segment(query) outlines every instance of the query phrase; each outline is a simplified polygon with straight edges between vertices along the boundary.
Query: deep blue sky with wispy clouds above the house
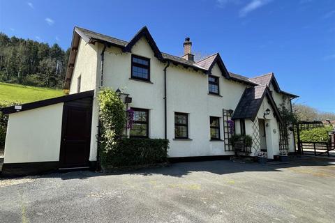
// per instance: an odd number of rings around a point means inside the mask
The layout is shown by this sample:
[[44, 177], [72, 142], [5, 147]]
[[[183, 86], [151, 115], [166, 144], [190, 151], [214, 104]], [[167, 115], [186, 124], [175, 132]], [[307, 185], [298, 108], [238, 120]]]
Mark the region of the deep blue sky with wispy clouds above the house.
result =
[[334, 0], [5, 1], [0, 31], [70, 46], [73, 26], [124, 40], [148, 26], [161, 49], [220, 52], [231, 72], [274, 72], [297, 102], [335, 112]]

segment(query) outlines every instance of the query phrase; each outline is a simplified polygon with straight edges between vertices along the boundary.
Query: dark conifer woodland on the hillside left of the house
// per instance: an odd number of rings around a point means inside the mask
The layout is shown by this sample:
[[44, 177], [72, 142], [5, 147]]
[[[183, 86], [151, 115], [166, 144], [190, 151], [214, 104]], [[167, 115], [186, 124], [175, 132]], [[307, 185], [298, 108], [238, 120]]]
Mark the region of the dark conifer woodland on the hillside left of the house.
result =
[[70, 50], [0, 33], [0, 81], [63, 87]]

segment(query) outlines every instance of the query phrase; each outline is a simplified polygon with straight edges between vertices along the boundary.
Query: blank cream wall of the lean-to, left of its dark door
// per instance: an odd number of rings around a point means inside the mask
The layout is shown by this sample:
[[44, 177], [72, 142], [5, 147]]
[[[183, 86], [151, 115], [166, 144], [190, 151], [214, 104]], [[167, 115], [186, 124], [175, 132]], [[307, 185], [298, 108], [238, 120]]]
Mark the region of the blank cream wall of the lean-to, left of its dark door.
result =
[[59, 161], [63, 105], [10, 114], [4, 163]]

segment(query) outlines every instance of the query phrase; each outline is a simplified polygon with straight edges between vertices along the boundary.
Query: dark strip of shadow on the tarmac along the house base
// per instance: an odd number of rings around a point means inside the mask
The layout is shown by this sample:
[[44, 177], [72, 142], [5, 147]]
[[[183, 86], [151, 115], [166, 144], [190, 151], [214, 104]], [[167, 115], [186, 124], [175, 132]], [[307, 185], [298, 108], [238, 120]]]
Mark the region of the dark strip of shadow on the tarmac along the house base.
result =
[[283, 171], [285, 168], [292, 167], [327, 167], [334, 166], [335, 160], [325, 159], [321, 157], [294, 157], [289, 163], [284, 164], [258, 164], [254, 163], [237, 163], [230, 160], [216, 160], [203, 162], [179, 162], [168, 164], [165, 167], [151, 167], [137, 170], [119, 170], [110, 173], [94, 172], [94, 171], [70, 171], [67, 173], [52, 173], [40, 176], [27, 176], [26, 178], [61, 178], [63, 180], [70, 179], [87, 179], [97, 176], [113, 176], [113, 175], [163, 175], [173, 177], [183, 177], [192, 172], [209, 172], [211, 174], [224, 175], [247, 171]]

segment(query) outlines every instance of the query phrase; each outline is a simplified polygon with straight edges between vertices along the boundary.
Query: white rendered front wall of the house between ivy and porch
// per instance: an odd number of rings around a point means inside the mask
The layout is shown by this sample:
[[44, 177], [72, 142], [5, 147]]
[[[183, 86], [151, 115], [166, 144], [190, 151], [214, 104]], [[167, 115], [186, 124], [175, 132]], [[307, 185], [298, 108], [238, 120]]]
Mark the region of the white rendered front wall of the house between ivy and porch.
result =
[[[103, 45], [98, 46], [101, 52]], [[130, 107], [149, 109], [149, 137], [164, 138], [164, 72], [166, 63], [158, 61], [142, 38], [131, 49], [133, 54], [150, 59], [150, 81], [140, 82], [131, 77], [131, 54], [117, 47], [105, 52], [104, 86], [121, 89], [133, 98]], [[99, 58], [99, 57], [98, 57]], [[98, 63], [100, 63], [98, 61]], [[210, 141], [209, 116], [220, 118], [223, 139], [223, 109], [234, 109], [245, 89], [244, 84], [229, 81], [214, 66], [212, 75], [220, 80], [222, 97], [208, 94], [208, 76], [193, 69], [170, 65], [167, 71], [168, 86], [168, 139], [170, 157], [199, 155], [230, 155], [225, 152], [223, 141]], [[188, 113], [188, 134], [191, 140], [174, 139], [174, 112]]]

